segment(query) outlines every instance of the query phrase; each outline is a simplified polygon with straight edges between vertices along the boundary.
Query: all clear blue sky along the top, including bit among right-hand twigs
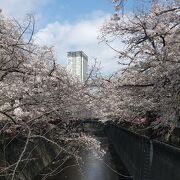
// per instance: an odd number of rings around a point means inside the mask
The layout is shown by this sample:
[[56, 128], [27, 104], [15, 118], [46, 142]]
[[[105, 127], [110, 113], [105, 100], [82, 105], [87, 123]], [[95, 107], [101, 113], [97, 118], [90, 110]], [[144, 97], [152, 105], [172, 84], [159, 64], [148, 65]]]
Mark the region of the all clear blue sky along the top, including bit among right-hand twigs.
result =
[[[136, 4], [137, 0], [128, 0], [126, 12], [132, 11]], [[112, 14], [113, 4], [111, 0], [51, 0], [39, 9], [34, 9], [33, 13], [38, 14], [38, 11], [44, 18], [44, 24], [53, 21], [75, 23], [95, 11]]]

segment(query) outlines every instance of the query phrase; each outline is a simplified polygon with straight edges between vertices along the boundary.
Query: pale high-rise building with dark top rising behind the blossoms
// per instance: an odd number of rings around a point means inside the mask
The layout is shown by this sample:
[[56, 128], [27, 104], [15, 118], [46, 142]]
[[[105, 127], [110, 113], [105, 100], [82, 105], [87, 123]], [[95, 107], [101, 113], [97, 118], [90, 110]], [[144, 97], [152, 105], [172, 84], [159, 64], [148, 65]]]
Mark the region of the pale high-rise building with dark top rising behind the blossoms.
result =
[[88, 73], [88, 56], [83, 51], [68, 52], [68, 70], [80, 82], [85, 82]]

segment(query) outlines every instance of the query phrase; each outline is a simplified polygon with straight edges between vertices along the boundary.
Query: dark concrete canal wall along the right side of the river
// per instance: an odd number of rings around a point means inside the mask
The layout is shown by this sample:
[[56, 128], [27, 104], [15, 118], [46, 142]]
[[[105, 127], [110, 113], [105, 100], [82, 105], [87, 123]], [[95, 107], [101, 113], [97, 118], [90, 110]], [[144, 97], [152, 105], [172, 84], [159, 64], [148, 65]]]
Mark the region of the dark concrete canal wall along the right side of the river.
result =
[[114, 125], [105, 133], [134, 180], [179, 180], [180, 150]]

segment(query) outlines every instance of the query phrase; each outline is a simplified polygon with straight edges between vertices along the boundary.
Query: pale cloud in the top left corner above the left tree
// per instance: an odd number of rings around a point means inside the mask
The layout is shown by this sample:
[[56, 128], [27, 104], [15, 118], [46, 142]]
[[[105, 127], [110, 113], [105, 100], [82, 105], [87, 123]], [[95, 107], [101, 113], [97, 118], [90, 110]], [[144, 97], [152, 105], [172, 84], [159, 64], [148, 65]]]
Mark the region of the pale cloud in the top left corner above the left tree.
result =
[[19, 18], [27, 13], [35, 13], [50, 0], [0, 0], [0, 9], [6, 16]]

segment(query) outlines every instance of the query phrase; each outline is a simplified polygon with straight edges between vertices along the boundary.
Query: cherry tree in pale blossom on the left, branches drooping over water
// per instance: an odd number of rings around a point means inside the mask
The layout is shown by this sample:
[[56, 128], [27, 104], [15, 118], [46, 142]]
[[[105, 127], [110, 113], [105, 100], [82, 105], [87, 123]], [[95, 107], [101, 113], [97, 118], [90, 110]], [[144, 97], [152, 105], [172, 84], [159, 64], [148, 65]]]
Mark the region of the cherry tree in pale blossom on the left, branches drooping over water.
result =
[[4, 159], [3, 168], [0, 162], [0, 176], [11, 180], [18, 176], [33, 139], [56, 145], [67, 154], [65, 160], [78, 159], [81, 147], [100, 148], [95, 139], [78, 132], [74, 122], [92, 109], [87, 85], [56, 63], [52, 48], [33, 43], [34, 25], [30, 15], [21, 24], [0, 15], [0, 136], [11, 141], [19, 134], [26, 137], [16, 162]]

